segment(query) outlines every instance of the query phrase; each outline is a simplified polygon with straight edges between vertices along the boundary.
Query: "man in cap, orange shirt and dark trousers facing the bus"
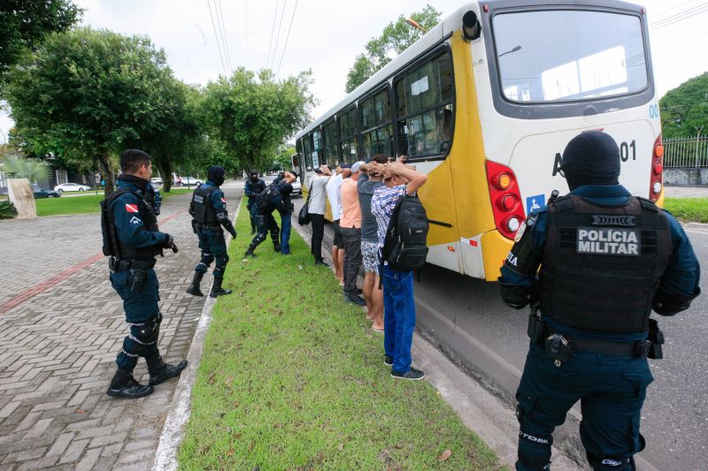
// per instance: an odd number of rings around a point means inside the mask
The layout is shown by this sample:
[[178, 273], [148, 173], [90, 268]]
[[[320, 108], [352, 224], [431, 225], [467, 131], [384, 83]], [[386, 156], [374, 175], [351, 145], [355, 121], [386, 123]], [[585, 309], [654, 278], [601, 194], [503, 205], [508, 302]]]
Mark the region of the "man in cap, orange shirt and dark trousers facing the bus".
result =
[[342, 231], [344, 249], [344, 263], [342, 274], [344, 277], [344, 301], [358, 306], [366, 306], [366, 300], [360, 297], [362, 292], [357, 287], [357, 278], [361, 268], [361, 209], [357, 191], [359, 166], [363, 162], [351, 166], [351, 174], [342, 180], [340, 196], [342, 199], [342, 217], [339, 220]]

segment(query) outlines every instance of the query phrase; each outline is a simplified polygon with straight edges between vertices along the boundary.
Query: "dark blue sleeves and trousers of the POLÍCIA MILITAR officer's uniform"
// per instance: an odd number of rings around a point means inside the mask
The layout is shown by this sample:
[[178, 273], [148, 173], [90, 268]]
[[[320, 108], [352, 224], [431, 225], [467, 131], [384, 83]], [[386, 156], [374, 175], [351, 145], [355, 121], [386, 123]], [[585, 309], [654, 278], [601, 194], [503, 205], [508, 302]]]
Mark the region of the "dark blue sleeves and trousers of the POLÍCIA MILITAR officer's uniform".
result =
[[[607, 208], [622, 207], [632, 198], [621, 185], [578, 186], [570, 194]], [[654, 310], [661, 315], [673, 315], [688, 308], [690, 300], [700, 292], [700, 271], [696, 255], [681, 225], [668, 212], [659, 212], [668, 221], [672, 254], [658, 284]], [[502, 296], [514, 308], [522, 308], [529, 299], [533, 301], [536, 293], [543, 288], [543, 277], [539, 282], [535, 272], [541, 264], [544, 250], [549, 248], [546, 247], [548, 227], [547, 207], [532, 212], [525, 224], [527, 233], [523, 235], [524, 238], [530, 238], [527, 240], [530, 246], [527, 247], [531, 249], [521, 255], [526, 260], [519, 257], [518, 261], [510, 263], [507, 258], [501, 270], [499, 282]], [[518, 245], [519, 238], [510, 257], [514, 256]], [[527, 270], [522, 270], [524, 273], [512, 267], [526, 263]], [[587, 286], [590, 295], [594, 288], [596, 286]], [[510, 303], [507, 296], [510, 290], [517, 289], [528, 293], [527, 300]], [[601, 298], [597, 295], [598, 303], [603, 301]], [[666, 305], [677, 307], [666, 310], [660, 308], [658, 298], [666, 300]], [[581, 329], [558, 323], [549, 314], [542, 310], [540, 315], [543, 338], [552, 333], [562, 335], [563, 338], [574, 338], [579, 345], [585, 342], [610, 347], [617, 345], [618, 348], [635, 345], [635, 342], [646, 341], [648, 338], [647, 330], [612, 332], [608, 331], [611, 329], [604, 329], [603, 325], [598, 325], [597, 330]], [[568, 359], [558, 361], [546, 353], [548, 345], [546, 341], [544, 348], [543, 341], [532, 341], [516, 394], [520, 424], [519, 461], [516, 468], [535, 470], [549, 467], [553, 429], [565, 422], [567, 411], [581, 400], [581, 440], [593, 468], [634, 469], [632, 455], [644, 447], [643, 437], [639, 433], [643, 401], [647, 386], [653, 381], [646, 352], [640, 355], [612, 354], [573, 348]]]

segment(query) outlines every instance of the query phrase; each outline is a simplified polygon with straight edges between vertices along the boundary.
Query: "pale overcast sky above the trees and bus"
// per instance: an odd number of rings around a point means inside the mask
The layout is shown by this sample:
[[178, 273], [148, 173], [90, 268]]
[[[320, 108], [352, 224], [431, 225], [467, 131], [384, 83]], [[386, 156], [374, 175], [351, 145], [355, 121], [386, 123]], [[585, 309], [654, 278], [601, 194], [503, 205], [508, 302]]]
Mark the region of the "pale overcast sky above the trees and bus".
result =
[[[312, 69], [312, 92], [319, 99], [316, 117], [342, 100], [346, 74], [366, 42], [398, 15], [419, 11], [428, 2], [443, 12], [443, 18], [465, 4], [454, 0], [74, 0], [85, 10], [84, 25], [150, 36], [158, 48], [165, 49], [175, 76], [188, 83], [204, 85], [240, 65], [250, 70], [280, 69], [280, 77]], [[640, 4], [648, 12], [659, 97], [708, 71], [708, 3], [645, 0]], [[221, 56], [227, 55], [230, 67], [222, 63], [215, 37], [219, 5], [227, 39], [226, 48], [221, 46], [227, 51], [222, 50]], [[676, 22], [666, 25], [667, 19]], [[12, 120], [3, 113], [0, 129], [6, 134], [10, 127]], [[4, 141], [2, 135], [0, 140]]]

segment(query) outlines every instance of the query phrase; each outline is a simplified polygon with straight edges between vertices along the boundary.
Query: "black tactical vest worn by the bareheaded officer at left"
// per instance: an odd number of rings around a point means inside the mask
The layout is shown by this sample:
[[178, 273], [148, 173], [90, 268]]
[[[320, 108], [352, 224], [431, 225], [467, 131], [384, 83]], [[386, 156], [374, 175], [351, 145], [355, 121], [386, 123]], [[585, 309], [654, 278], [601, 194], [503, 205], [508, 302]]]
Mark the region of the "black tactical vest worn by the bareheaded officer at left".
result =
[[112, 194], [109, 194], [108, 198], [102, 201], [101, 204], [104, 210], [101, 224], [104, 232], [104, 254], [120, 259], [150, 260], [155, 258], [156, 255], [162, 253], [162, 248], [157, 246], [143, 248], [130, 247], [121, 242], [118, 237], [115, 218], [112, 214], [112, 204], [119, 195], [126, 193], [135, 194], [138, 198], [138, 215], [142, 218], [142, 223], [145, 224], [147, 230], [150, 232], [159, 231], [158, 217], [155, 216], [155, 212], [150, 206], [150, 203], [143, 199], [144, 195], [142, 192], [134, 192], [132, 190], [128, 190], [127, 188], [119, 188]]

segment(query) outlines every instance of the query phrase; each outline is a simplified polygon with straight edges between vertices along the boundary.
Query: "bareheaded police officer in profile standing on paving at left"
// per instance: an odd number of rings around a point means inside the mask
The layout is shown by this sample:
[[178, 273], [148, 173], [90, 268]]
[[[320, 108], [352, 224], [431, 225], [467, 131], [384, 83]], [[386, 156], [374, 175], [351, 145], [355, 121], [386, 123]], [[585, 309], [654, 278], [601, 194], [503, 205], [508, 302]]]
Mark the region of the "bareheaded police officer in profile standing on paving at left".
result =
[[[140, 398], [153, 391], [153, 386], [180, 376], [187, 361], [176, 366], [162, 361], [158, 336], [162, 314], [158, 308], [158, 277], [155, 255], [163, 248], [177, 252], [173, 237], [159, 232], [158, 220], [146, 201], [150, 192], [152, 163], [150, 156], [138, 149], [120, 155], [118, 189], [102, 204], [104, 214], [104, 253], [110, 254], [111, 284], [123, 300], [130, 334], [118, 353], [118, 370], [107, 394], [116, 398]], [[148, 363], [150, 384], [139, 384], [133, 377], [138, 357]]]

